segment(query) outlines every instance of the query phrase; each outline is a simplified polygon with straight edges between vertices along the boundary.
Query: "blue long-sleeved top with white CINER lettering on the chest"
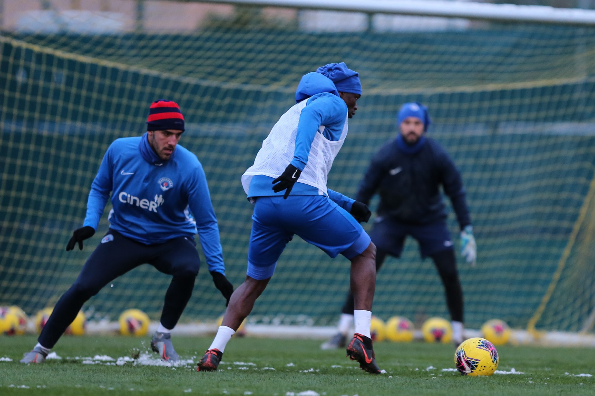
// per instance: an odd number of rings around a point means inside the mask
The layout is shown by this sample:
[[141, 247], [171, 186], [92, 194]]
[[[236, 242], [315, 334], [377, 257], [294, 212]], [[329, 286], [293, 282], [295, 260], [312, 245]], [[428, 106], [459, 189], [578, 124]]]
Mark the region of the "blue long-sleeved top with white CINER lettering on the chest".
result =
[[205, 172], [186, 148], [177, 145], [170, 160], [163, 161], [147, 134], [112, 142], [93, 180], [83, 226], [97, 230], [110, 192], [112, 229], [146, 245], [193, 238], [198, 232], [209, 271], [225, 274]]

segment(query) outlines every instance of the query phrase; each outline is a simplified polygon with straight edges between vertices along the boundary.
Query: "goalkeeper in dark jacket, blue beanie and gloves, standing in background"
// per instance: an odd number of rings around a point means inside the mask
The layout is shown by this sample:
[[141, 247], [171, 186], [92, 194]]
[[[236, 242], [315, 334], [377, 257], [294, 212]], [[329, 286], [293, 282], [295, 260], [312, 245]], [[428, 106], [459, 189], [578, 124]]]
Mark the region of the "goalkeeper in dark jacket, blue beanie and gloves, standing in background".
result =
[[[453, 342], [458, 345], [463, 341], [463, 292], [440, 185], [461, 226], [461, 254], [471, 265], [475, 265], [477, 248], [461, 174], [444, 148], [425, 137], [429, 125], [427, 107], [420, 103], [403, 104], [397, 116], [400, 133], [372, 158], [356, 199], [368, 204], [374, 194], [380, 195], [378, 217], [370, 233], [378, 249], [377, 270], [387, 255], [400, 256], [408, 235], [417, 239], [422, 258], [433, 259], [446, 292]], [[349, 293], [339, 319], [339, 332], [321, 348], [344, 346], [352, 325], [353, 295]]]

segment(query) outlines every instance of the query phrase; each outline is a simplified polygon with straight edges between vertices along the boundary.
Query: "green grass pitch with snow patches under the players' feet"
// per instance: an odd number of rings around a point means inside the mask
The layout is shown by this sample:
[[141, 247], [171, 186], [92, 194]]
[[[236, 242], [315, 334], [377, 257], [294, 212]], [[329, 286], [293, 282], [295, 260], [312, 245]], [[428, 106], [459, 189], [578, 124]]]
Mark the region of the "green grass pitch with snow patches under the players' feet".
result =
[[[344, 350], [322, 351], [320, 340], [231, 340], [219, 372], [196, 372], [211, 337], [175, 337], [183, 364], [162, 366], [150, 338], [62, 337], [61, 359], [18, 363], [34, 336], [0, 337], [1, 395], [593, 395], [593, 349], [500, 346], [499, 370], [516, 373], [464, 377], [450, 344], [375, 343], [384, 375], [359, 370]], [[139, 355], [140, 354], [140, 355]], [[133, 357], [137, 359], [133, 359]], [[12, 359], [12, 362], [8, 360]], [[582, 374], [582, 375], [581, 375]]]

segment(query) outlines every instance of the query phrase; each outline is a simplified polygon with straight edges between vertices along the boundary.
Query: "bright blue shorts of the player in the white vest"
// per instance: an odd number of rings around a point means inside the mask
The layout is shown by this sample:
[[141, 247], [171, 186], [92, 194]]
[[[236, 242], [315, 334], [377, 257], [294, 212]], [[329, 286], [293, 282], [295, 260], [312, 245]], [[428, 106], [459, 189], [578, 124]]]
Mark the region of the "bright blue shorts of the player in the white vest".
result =
[[249, 277], [273, 276], [277, 260], [293, 235], [326, 254], [348, 259], [368, 248], [370, 237], [358, 221], [325, 195], [258, 197], [248, 247]]

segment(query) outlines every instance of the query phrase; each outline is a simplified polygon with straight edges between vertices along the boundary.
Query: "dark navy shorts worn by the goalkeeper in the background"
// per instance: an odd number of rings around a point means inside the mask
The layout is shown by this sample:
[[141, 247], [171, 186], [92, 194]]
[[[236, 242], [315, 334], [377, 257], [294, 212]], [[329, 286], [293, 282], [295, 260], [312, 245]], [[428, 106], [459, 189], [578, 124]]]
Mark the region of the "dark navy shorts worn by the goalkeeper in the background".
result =
[[419, 253], [422, 257], [453, 249], [446, 221], [414, 225], [399, 223], [386, 217], [377, 217], [370, 232], [376, 248], [395, 257], [400, 257], [405, 245], [405, 237], [408, 235], [419, 243]]

